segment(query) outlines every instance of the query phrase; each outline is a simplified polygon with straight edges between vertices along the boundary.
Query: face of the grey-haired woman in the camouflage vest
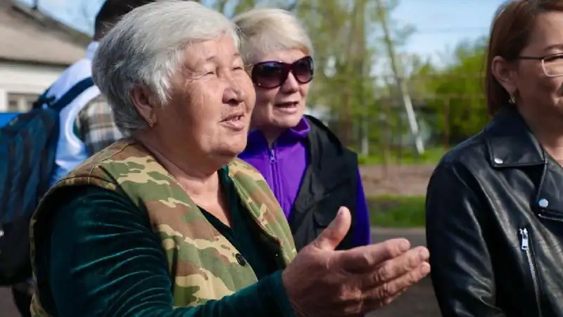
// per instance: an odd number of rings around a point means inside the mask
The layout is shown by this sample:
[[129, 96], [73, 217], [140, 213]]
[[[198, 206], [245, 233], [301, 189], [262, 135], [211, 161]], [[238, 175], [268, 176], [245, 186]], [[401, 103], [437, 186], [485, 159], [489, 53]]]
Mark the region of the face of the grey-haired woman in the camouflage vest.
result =
[[231, 37], [217, 37], [187, 46], [184, 56], [153, 129], [184, 153], [231, 160], [246, 146], [255, 103], [239, 51]]

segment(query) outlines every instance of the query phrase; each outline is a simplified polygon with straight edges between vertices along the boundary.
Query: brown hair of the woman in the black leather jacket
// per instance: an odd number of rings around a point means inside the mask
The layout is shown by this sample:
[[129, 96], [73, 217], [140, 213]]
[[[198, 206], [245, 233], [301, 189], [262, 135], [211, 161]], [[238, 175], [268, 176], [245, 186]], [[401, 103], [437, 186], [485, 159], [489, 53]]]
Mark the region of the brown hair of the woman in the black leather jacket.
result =
[[493, 58], [500, 56], [509, 62], [517, 60], [528, 44], [538, 15], [551, 11], [563, 11], [563, 1], [511, 0], [498, 8], [491, 25], [486, 59], [485, 93], [489, 114], [496, 115], [508, 105], [510, 98], [493, 76]]

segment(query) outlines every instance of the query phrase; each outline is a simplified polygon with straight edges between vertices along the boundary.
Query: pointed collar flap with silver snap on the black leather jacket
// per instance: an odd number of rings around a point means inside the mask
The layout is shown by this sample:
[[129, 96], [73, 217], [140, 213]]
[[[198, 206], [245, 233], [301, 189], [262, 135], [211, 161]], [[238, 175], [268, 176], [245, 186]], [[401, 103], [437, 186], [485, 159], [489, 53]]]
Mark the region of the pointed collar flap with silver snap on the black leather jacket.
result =
[[502, 110], [484, 131], [492, 167], [545, 164], [545, 152], [515, 109]]

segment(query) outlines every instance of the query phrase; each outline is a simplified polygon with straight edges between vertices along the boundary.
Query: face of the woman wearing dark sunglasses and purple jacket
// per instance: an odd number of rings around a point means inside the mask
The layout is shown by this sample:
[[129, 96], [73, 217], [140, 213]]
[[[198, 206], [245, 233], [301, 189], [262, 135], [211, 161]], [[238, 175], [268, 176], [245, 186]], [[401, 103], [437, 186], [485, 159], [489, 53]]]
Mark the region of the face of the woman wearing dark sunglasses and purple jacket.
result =
[[251, 71], [256, 92], [252, 126], [274, 134], [295, 127], [305, 112], [312, 75], [312, 59], [301, 50], [260, 56]]

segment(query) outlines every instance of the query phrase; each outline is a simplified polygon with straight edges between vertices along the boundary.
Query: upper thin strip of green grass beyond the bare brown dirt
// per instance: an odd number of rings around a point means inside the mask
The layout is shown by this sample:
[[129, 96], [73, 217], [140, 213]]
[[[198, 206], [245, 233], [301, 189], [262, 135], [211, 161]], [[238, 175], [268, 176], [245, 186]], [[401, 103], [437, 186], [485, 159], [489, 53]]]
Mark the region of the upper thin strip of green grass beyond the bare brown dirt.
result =
[[426, 148], [424, 154], [417, 155], [414, 150], [392, 150], [387, 155], [375, 153], [373, 155], [358, 155], [360, 165], [380, 165], [380, 164], [436, 164], [445, 154], [444, 148]]

